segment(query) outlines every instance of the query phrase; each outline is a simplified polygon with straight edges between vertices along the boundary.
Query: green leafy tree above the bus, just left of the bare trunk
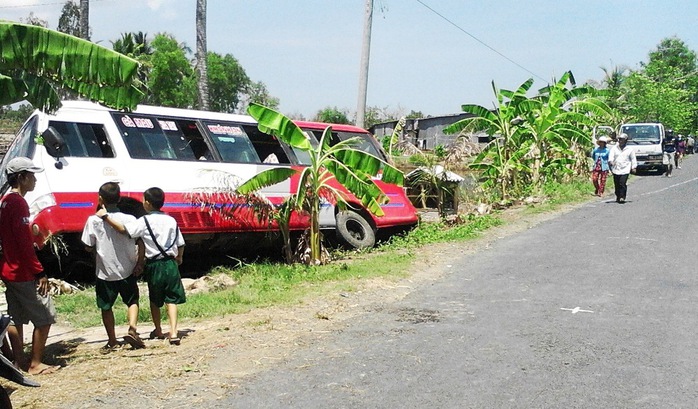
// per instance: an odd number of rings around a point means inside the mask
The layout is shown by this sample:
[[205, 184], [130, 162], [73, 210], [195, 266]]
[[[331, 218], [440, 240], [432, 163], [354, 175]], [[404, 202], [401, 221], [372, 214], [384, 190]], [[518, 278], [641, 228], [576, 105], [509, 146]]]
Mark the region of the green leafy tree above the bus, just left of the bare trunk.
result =
[[186, 56], [186, 45], [177, 43], [170, 34], [156, 35], [151, 45], [147, 102], [177, 108], [196, 105], [196, 75]]

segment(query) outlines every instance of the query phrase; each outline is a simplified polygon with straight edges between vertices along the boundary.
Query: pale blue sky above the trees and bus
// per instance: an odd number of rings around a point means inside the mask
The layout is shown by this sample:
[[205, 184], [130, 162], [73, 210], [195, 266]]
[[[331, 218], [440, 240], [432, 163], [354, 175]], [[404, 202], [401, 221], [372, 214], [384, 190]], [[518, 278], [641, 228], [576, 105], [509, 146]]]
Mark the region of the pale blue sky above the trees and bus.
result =
[[[30, 12], [56, 28], [64, 0], [0, 0], [0, 19]], [[281, 112], [355, 115], [366, 0], [208, 0], [208, 50], [231, 54]], [[196, 0], [91, 0], [92, 40], [165, 32], [196, 47]], [[374, 0], [367, 106], [393, 115], [487, 108], [498, 88], [542, 88], [572, 71], [638, 68], [662, 39], [698, 49], [696, 0]]]

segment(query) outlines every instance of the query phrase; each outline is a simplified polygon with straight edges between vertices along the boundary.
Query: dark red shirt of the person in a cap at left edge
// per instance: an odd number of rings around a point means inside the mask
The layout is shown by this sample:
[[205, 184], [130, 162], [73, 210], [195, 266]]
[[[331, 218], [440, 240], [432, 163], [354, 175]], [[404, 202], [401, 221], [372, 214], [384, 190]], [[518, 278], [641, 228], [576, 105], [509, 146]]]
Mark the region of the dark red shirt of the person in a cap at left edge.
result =
[[44, 268], [34, 251], [29, 205], [17, 192], [8, 193], [0, 202], [0, 243], [2, 279], [13, 282], [36, 280], [36, 275]]

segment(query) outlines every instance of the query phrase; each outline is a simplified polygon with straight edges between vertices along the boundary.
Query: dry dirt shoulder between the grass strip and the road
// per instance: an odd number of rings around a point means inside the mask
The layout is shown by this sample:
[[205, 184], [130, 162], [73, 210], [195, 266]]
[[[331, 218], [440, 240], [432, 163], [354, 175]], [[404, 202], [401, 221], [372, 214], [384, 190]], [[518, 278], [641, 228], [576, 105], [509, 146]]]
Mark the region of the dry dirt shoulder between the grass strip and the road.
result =
[[[519, 211], [506, 211], [503, 226], [488, 230], [476, 240], [430, 245], [419, 251], [406, 278], [361, 279], [352, 283], [356, 288], [352, 292], [328, 286], [322, 296], [291, 306], [183, 321], [179, 325], [179, 346], [146, 340], [145, 349], [127, 346], [104, 354], [100, 351], [106, 343], [103, 328], [56, 326], [46, 356], [47, 362], [62, 368], [34, 377], [42, 384], [39, 388], [17, 386], [4, 379], [0, 383], [11, 392], [16, 408], [209, 406], [206, 403], [229, 394], [236, 382], [287, 359], [314, 338], [341, 329], [351, 317], [376, 304], [400, 299], [447, 274], [449, 260], [456, 254], [486, 250], [492, 241], [553, 216], [549, 213], [522, 218]], [[146, 322], [139, 332], [146, 338], [152, 328]], [[117, 335], [125, 330], [118, 328]]]

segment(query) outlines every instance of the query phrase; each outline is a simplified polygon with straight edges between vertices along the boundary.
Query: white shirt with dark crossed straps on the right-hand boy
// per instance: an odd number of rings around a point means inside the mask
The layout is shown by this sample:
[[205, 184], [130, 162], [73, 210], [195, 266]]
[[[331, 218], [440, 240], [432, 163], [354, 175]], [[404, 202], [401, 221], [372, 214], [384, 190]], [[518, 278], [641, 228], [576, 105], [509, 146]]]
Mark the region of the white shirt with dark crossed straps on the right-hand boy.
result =
[[[150, 224], [153, 235], [148, 231], [145, 218], [148, 218], [148, 224]], [[177, 257], [179, 253], [177, 247], [184, 246], [184, 237], [182, 237], [182, 233], [177, 228], [177, 221], [172, 216], [162, 212], [149, 213], [135, 222], [125, 224], [124, 227], [129, 236], [134, 239], [138, 237], [143, 239], [145, 257], [148, 259], [163, 258], [160, 249], [155, 244], [155, 240], [165, 250], [165, 253], [171, 257]]]

